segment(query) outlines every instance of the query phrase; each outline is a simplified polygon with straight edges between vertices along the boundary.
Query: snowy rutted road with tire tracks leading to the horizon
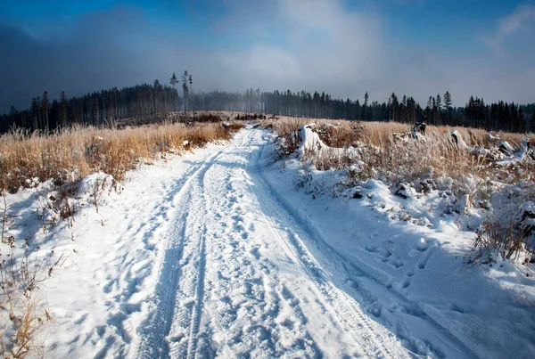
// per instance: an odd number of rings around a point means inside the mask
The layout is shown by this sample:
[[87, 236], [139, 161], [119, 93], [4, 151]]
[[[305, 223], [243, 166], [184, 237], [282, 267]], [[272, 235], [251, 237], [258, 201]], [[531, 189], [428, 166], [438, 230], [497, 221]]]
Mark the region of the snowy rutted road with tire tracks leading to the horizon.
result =
[[[131, 357], [410, 357], [307, 249], [247, 129], [185, 173]], [[325, 259], [325, 258], [324, 258]]]

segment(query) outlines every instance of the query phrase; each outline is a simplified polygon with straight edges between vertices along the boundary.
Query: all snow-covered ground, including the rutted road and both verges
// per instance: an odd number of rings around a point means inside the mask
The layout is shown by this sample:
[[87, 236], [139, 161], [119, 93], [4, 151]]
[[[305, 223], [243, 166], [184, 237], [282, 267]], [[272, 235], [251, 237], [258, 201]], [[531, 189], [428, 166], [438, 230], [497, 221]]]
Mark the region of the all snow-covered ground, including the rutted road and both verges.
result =
[[78, 200], [98, 211], [45, 232], [46, 184], [8, 195], [8, 234], [66, 254], [40, 284], [45, 357], [535, 355], [533, 275], [465, 265], [468, 217], [374, 180], [333, 198], [339, 174], [276, 162], [272, 137], [249, 126], [98, 199], [94, 175]]

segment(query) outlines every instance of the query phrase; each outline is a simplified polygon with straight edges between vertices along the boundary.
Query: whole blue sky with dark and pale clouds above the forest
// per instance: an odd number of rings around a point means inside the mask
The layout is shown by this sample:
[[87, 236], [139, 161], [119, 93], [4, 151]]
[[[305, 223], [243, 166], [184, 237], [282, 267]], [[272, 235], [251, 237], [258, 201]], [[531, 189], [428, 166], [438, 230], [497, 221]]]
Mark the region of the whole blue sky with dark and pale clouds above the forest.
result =
[[184, 69], [196, 91], [535, 102], [535, 1], [0, 1], [0, 112]]

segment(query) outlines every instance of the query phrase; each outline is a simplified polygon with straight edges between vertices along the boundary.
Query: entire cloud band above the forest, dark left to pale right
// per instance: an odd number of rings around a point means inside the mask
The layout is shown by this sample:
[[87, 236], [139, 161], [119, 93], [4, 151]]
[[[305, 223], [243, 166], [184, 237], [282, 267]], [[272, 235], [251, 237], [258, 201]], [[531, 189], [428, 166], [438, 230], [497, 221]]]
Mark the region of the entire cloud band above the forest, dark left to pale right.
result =
[[386, 16], [369, 7], [349, 11], [342, 0], [228, 2], [233, 6], [210, 29], [232, 48], [195, 43], [190, 34], [154, 28], [139, 12], [124, 9], [78, 19], [62, 41], [14, 37], [0, 27], [0, 49], [12, 53], [0, 61], [0, 75], [14, 84], [0, 91], [0, 111], [12, 103], [27, 106], [45, 89], [78, 95], [154, 78], [167, 84], [173, 71], [184, 69], [193, 74], [196, 91], [325, 91], [361, 102], [366, 91], [380, 102], [393, 91], [424, 104], [449, 90], [457, 105], [472, 94], [486, 102], [535, 101], [530, 39], [516, 47], [509, 41], [530, 37], [533, 8], [520, 7], [490, 31], [506, 42], [506, 56], [481, 46], [467, 57], [461, 49], [420, 48], [386, 32]]

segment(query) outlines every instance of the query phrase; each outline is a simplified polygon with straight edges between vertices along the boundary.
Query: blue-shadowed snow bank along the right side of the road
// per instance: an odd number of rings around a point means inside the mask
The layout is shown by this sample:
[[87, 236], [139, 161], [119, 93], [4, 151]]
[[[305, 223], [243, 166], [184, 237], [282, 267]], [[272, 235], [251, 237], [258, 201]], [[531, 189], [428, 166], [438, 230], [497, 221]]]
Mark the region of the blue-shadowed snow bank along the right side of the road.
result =
[[[313, 255], [325, 263], [347, 261], [347, 269], [332, 272], [341, 274], [340, 283], [355, 284], [346, 292], [405, 347], [432, 357], [533, 356], [532, 271], [502, 261], [465, 265], [475, 234], [464, 229], [475, 218], [447, 214], [439, 191], [399, 196], [377, 180], [338, 198], [308, 195], [321, 193], [316, 188], [325, 171], [309, 169], [309, 183], [296, 192], [288, 172], [300, 176], [302, 165], [287, 161], [284, 167], [268, 173], [279, 199], [317, 233], [308, 244]], [[342, 177], [333, 173], [324, 185], [337, 181]]]

